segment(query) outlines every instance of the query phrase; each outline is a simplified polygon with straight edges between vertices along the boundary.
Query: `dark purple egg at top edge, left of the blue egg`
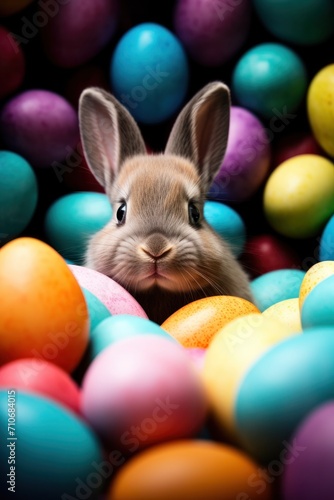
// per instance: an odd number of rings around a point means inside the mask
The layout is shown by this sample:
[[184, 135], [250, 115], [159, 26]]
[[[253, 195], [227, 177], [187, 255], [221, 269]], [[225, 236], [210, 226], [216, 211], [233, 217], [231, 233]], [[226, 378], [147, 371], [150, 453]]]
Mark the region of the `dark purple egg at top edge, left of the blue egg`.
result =
[[71, 0], [49, 5], [49, 18], [42, 30], [48, 58], [64, 68], [92, 59], [115, 34], [118, 9], [118, 0]]

